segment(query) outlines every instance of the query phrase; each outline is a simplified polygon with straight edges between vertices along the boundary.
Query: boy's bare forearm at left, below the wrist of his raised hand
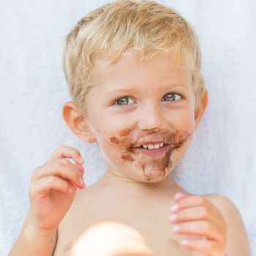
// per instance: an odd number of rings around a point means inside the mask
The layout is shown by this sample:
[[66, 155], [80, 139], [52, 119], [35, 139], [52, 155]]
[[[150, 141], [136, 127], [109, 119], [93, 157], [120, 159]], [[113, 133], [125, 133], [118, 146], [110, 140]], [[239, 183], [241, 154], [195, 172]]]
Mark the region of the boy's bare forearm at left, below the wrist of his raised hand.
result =
[[9, 256], [52, 256], [56, 247], [56, 241], [57, 230], [37, 229], [29, 212], [20, 236], [18, 236]]

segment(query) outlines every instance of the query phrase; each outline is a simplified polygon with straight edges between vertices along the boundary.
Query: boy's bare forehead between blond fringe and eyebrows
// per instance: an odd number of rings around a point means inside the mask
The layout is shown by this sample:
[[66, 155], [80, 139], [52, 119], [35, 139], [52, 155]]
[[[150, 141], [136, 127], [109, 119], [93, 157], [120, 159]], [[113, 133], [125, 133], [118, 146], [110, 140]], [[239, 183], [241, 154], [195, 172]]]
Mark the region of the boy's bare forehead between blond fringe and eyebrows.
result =
[[143, 61], [134, 54], [127, 54], [114, 64], [99, 59], [95, 62], [94, 72], [97, 76], [97, 87], [102, 90], [132, 85], [147, 89], [167, 84], [189, 86], [192, 83], [192, 73], [170, 53], [158, 53]]

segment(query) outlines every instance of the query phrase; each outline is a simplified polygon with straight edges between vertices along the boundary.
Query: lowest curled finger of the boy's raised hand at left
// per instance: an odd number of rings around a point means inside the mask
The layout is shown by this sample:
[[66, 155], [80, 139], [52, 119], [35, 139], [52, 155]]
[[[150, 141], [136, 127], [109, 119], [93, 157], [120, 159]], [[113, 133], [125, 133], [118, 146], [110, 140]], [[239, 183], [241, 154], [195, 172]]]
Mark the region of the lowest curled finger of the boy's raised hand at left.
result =
[[75, 188], [72, 187], [72, 184], [56, 176], [47, 176], [39, 179], [37, 184], [31, 184], [30, 190], [31, 195], [41, 195], [41, 197], [44, 197], [48, 195], [50, 189], [55, 189], [69, 195], [75, 192]]

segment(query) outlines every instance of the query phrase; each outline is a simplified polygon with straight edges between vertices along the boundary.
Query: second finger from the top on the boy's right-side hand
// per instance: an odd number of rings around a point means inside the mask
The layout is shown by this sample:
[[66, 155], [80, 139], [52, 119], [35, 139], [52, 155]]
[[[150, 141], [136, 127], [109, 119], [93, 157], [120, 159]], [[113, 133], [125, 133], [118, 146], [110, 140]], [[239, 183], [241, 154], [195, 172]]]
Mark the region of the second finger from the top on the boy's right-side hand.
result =
[[170, 222], [173, 223], [195, 220], [211, 220], [213, 222], [219, 222], [217, 216], [211, 213], [211, 209], [204, 206], [185, 208], [184, 210], [177, 211], [170, 215]]

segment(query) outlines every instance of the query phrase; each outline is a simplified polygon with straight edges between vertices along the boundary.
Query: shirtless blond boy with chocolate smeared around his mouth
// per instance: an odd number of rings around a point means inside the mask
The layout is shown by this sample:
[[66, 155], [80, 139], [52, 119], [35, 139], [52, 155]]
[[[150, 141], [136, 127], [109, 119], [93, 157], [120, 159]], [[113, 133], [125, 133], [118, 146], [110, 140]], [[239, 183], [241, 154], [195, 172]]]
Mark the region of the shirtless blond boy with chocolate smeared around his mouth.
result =
[[64, 120], [97, 143], [108, 170], [84, 189], [80, 153], [58, 148], [34, 171], [31, 210], [10, 255], [69, 255], [84, 230], [109, 220], [137, 230], [154, 255], [250, 255], [236, 206], [191, 195], [170, 174], [208, 102], [187, 20], [155, 1], [105, 4], [67, 36], [64, 71], [72, 96]]

